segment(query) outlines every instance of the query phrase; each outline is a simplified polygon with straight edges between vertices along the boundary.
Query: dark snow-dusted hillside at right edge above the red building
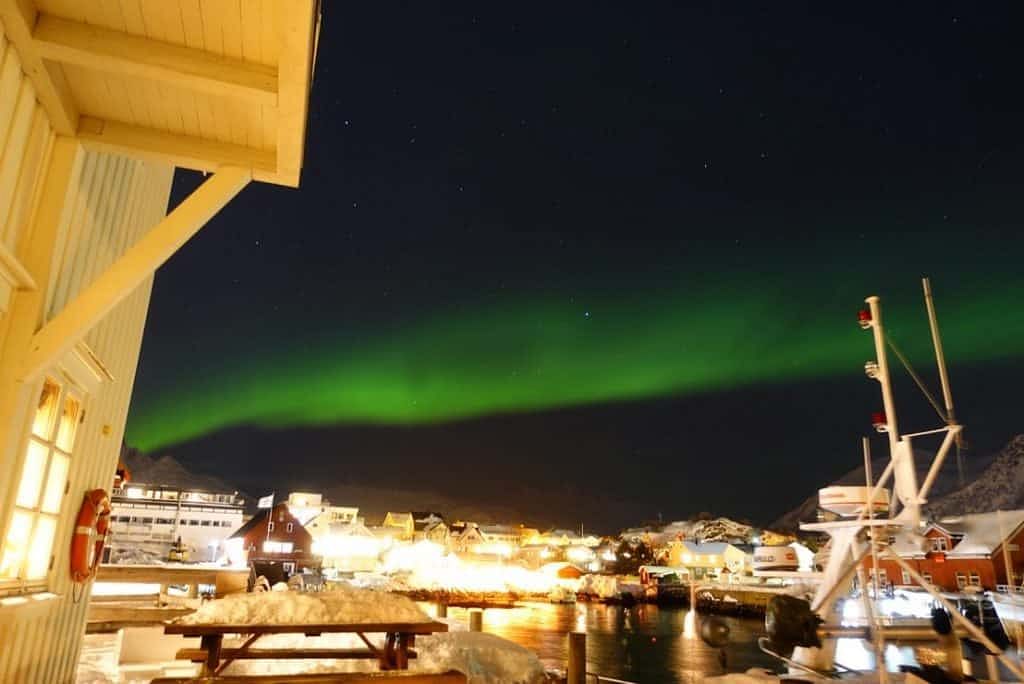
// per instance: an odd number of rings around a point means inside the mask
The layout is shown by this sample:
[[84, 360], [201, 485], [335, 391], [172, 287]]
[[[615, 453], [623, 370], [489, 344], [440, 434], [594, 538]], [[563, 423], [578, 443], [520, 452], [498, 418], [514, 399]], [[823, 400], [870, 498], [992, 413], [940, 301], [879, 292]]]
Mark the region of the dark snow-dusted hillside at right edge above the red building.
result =
[[928, 506], [934, 515], [1024, 508], [1024, 434], [1010, 440], [974, 481]]

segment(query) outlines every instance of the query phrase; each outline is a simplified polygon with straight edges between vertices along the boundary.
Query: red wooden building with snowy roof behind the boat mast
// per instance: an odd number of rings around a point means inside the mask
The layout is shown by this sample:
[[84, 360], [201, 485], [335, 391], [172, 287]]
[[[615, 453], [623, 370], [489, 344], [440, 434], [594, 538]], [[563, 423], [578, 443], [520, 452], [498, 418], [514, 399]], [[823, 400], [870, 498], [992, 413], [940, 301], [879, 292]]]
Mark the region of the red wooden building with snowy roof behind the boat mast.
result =
[[[988, 591], [1021, 586], [1024, 573], [1024, 510], [975, 513], [930, 523], [924, 543], [906, 532], [889, 538], [889, 545], [926, 581], [944, 591], [979, 587]], [[1007, 576], [1004, 549], [1010, 557]], [[868, 574], [871, 559], [864, 560]], [[882, 585], [908, 586], [913, 582], [896, 561], [879, 558]]]

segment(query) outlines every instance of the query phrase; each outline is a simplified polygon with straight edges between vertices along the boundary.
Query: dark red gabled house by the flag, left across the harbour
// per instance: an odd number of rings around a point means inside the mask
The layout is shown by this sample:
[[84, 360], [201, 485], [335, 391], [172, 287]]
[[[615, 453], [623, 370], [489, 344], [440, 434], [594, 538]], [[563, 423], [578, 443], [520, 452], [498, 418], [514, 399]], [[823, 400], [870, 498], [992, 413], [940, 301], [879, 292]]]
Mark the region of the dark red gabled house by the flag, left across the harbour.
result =
[[313, 538], [285, 503], [260, 509], [230, 539], [242, 540], [247, 562], [281, 563], [289, 575], [321, 564], [319, 557], [312, 553]]

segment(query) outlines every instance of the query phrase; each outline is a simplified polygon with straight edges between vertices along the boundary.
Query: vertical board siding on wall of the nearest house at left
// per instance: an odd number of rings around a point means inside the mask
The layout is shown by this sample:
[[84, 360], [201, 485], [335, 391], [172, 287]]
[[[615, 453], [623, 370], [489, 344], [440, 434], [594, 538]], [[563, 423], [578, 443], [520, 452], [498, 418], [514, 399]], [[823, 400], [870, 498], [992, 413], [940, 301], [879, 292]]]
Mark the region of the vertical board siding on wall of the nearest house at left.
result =
[[[14, 254], [25, 226], [31, 224], [52, 141], [49, 122], [0, 27], [0, 247], [4, 250], [0, 253], [0, 316], [6, 311], [11, 289], [17, 287], [10, 283], [9, 272], [17, 270]], [[36, 284], [45, 289], [44, 320], [59, 312], [167, 211], [173, 176], [170, 166], [84, 149], [79, 156], [78, 170], [65, 197], [67, 210], [52, 254], [50, 282]], [[49, 579], [49, 589], [57, 597], [0, 607], [0, 682], [50, 684], [75, 679], [89, 596], [87, 592], [77, 595], [81, 588], [71, 582], [72, 527], [83, 494], [96, 487], [110, 489], [112, 484], [151, 288], [152, 279], [86, 337], [113, 381], [88, 397], [75, 442]], [[27, 396], [26, 401], [33, 398]], [[23, 419], [27, 409], [17, 412]], [[0, 430], [23, 427], [0, 426]], [[12, 474], [11, 458], [0, 454], [0, 474]], [[0, 488], [16, 486], [16, 479], [4, 479]], [[0, 496], [0, 505], [10, 504], [10, 497]]]

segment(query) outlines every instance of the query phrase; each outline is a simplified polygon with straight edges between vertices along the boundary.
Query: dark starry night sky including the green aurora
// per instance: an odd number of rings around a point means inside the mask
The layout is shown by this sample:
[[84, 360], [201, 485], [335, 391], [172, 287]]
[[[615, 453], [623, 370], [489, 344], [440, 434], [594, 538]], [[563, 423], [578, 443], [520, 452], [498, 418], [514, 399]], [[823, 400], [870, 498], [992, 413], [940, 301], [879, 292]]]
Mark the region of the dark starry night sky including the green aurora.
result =
[[924, 274], [970, 453], [1024, 431], [1010, 3], [680, 4], [327, 3], [302, 187], [159, 271], [128, 442], [251, 494], [768, 521], [859, 463], [866, 295], [937, 389]]

